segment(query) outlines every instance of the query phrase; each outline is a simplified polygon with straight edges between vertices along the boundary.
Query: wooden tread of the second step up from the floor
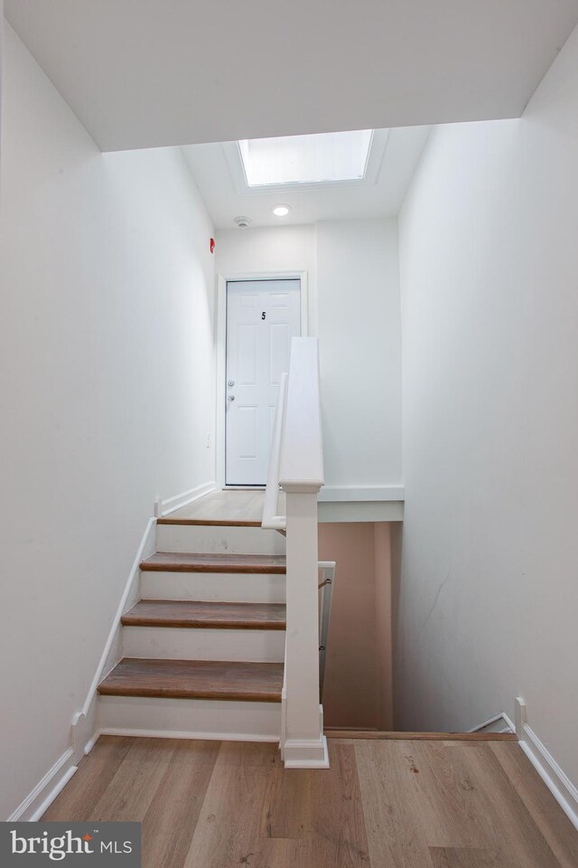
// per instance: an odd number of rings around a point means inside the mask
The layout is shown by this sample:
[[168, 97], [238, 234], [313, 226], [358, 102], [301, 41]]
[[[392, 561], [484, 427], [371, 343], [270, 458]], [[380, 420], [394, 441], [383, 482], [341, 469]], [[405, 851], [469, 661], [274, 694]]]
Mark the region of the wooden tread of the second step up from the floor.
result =
[[284, 630], [284, 603], [141, 599], [121, 618], [126, 627]]

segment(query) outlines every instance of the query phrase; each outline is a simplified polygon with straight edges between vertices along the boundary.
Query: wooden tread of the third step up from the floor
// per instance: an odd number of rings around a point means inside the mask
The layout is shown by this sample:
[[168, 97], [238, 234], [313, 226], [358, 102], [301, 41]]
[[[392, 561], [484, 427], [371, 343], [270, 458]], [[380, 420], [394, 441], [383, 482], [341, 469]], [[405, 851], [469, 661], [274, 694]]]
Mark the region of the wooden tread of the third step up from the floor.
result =
[[187, 554], [155, 552], [141, 561], [141, 570], [155, 572], [260, 572], [279, 575], [286, 572], [281, 554]]

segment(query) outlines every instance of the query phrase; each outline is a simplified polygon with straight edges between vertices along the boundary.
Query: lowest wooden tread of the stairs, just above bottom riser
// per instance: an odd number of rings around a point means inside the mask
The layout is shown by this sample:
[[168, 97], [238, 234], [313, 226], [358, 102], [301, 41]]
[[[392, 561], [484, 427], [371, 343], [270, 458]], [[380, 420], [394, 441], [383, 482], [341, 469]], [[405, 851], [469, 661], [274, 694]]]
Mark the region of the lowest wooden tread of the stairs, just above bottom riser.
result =
[[98, 684], [98, 693], [280, 703], [283, 668], [283, 663], [125, 657]]

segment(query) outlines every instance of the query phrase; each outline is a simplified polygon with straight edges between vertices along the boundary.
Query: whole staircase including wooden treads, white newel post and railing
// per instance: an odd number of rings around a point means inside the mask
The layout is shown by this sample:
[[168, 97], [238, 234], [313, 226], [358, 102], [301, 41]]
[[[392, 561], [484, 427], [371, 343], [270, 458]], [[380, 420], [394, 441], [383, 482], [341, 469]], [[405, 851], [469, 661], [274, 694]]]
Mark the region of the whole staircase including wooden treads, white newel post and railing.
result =
[[318, 560], [321, 420], [317, 339], [293, 338], [262, 521], [158, 519], [156, 552], [140, 564], [138, 592], [131, 582], [123, 597], [136, 603], [103, 653], [98, 703], [93, 686], [73, 721], [77, 754], [97, 728], [278, 741], [285, 768], [329, 768], [320, 703], [329, 607], [320, 631], [319, 591], [335, 564]]

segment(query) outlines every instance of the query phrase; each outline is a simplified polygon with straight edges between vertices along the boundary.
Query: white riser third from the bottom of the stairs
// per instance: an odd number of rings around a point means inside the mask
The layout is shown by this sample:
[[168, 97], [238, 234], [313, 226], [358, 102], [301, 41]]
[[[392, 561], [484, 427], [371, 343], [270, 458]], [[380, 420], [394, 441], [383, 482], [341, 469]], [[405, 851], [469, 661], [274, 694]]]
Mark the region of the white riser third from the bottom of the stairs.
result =
[[284, 603], [285, 576], [228, 572], [141, 573], [143, 599]]

